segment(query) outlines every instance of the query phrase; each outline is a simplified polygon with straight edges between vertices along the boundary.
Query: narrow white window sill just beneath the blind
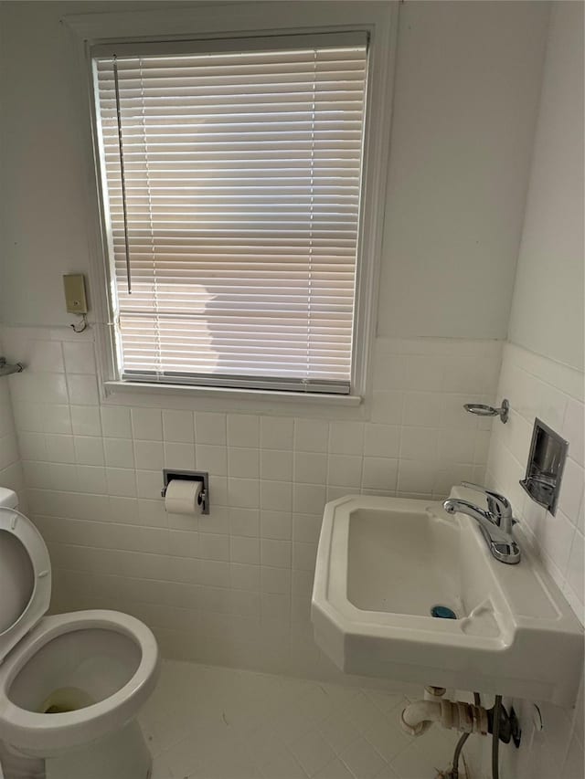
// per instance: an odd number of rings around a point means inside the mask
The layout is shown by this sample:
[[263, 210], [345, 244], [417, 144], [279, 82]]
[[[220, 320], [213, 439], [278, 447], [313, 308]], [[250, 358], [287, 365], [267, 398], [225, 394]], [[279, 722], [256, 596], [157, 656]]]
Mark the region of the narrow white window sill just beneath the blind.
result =
[[251, 400], [261, 402], [297, 403], [310, 405], [335, 405], [356, 407], [361, 404], [360, 395], [328, 395], [326, 393], [276, 392], [274, 390], [237, 389], [234, 387], [192, 386], [189, 384], [159, 384], [157, 382], [104, 382], [106, 396], [129, 395], [179, 395], [182, 397], [207, 397], [216, 400]]

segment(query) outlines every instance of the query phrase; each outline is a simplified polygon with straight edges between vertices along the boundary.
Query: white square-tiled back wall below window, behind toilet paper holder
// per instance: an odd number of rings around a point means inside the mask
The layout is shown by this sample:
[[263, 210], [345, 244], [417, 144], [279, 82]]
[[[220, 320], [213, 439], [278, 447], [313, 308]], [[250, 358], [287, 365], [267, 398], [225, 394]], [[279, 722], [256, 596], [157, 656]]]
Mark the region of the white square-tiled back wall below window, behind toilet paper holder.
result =
[[[3, 335], [27, 362], [11, 389], [53, 608], [132, 613], [171, 657], [329, 672], [309, 621], [325, 501], [440, 498], [484, 479], [490, 423], [462, 404], [494, 400], [500, 342], [379, 340], [372, 397], [348, 419], [321, 407], [305, 418], [286, 405], [101, 404], [90, 332]], [[162, 469], [196, 465], [210, 474], [210, 516], [166, 514]]]

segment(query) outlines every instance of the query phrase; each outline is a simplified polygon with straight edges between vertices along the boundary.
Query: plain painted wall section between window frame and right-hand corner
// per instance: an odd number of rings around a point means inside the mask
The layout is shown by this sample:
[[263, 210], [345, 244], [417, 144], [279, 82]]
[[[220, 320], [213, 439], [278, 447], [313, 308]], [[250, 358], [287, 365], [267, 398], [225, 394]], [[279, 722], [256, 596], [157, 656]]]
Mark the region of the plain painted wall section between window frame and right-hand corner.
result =
[[378, 332], [505, 338], [548, 3], [400, 11]]

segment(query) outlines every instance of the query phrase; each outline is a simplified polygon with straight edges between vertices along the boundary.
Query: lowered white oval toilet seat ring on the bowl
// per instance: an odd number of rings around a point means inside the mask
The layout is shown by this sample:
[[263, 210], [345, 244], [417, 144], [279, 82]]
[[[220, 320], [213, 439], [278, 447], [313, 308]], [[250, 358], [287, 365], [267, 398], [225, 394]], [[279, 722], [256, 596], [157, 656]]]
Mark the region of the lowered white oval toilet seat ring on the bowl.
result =
[[[112, 630], [129, 637], [141, 658], [127, 682], [112, 695], [84, 709], [59, 714], [27, 711], [9, 699], [19, 672], [53, 639], [88, 629]], [[149, 698], [157, 679], [158, 647], [151, 630], [133, 616], [91, 610], [46, 616], [0, 665], [0, 738], [29, 754], [47, 756], [80, 746], [119, 729]]]

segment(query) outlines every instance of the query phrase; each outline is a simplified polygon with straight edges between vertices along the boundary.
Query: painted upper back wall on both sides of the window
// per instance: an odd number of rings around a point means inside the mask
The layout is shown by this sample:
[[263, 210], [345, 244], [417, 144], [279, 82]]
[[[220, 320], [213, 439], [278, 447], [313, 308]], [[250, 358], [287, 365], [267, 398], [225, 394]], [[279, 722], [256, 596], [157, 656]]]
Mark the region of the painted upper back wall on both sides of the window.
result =
[[[61, 275], [87, 271], [88, 216], [59, 18], [126, 5], [2, 5], [2, 321], [69, 322]], [[548, 4], [406, 2], [399, 16], [379, 334], [505, 338]]]

